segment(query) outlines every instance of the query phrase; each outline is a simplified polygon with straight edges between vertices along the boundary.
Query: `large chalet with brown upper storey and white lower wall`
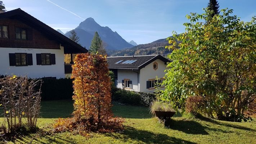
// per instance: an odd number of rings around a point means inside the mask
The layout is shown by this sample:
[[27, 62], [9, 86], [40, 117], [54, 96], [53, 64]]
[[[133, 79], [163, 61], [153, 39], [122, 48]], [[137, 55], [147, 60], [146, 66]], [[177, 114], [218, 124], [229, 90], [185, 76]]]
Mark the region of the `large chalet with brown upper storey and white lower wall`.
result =
[[0, 12], [0, 75], [64, 78], [64, 54], [87, 52], [21, 9]]

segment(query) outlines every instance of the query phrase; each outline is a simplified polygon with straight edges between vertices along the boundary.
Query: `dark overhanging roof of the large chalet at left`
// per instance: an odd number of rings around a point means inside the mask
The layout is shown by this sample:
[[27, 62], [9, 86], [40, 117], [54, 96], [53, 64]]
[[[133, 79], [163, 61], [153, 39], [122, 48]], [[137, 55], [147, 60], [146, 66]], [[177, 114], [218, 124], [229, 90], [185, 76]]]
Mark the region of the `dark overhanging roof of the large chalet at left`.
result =
[[0, 13], [0, 19], [1, 18], [18, 19], [19, 21], [26, 23], [28, 26], [33, 27], [36, 30], [43, 33], [50, 40], [56, 40], [60, 44], [62, 44], [62, 46], [64, 46], [64, 53], [87, 53], [88, 52], [88, 50], [82, 47], [81, 45], [72, 41], [68, 37], [62, 35], [61, 33], [49, 27], [45, 23], [39, 21], [32, 15], [24, 12], [20, 8], [10, 10], [8, 12]]

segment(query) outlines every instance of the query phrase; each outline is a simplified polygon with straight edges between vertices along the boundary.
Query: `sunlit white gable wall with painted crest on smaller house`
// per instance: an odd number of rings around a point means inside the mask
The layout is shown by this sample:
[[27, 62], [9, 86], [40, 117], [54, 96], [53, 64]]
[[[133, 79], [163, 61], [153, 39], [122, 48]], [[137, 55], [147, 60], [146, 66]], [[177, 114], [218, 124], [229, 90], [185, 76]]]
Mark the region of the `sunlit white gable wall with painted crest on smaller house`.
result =
[[[153, 69], [153, 63], [157, 62], [158, 63], [158, 68], [157, 70]], [[154, 92], [155, 89], [147, 89], [147, 81], [149, 79], [155, 79], [156, 76], [158, 78], [163, 78], [165, 76], [165, 69], [166, 69], [166, 64], [160, 59], [155, 60], [154, 62], [148, 64], [144, 68], [140, 69], [140, 91], [141, 92]], [[164, 89], [164, 88], [161, 88]]]

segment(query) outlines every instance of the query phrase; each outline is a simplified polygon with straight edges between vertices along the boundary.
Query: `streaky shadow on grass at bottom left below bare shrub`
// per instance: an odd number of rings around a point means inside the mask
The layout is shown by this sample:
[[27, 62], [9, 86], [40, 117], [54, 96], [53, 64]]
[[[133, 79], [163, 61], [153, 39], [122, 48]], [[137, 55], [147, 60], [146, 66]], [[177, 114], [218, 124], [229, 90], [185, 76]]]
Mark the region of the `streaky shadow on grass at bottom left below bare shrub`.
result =
[[74, 142], [72, 139], [66, 137], [60, 137], [55, 134], [50, 134], [47, 131], [39, 129], [36, 133], [26, 133], [23, 135], [16, 136], [14, 139], [11, 140], [13, 143], [36, 143], [36, 144], [51, 144], [51, 143], [68, 143], [73, 144]]

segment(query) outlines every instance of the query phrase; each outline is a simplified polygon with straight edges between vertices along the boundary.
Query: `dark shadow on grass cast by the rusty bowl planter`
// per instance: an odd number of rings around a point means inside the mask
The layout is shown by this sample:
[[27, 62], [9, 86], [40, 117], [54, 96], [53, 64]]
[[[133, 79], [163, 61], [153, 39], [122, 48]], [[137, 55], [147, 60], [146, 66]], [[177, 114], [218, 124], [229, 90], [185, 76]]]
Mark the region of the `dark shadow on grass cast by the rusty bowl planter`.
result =
[[185, 132], [186, 134], [208, 135], [208, 132], [205, 130], [207, 128], [196, 121], [176, 121], [171, 119], [170, 121], [165, 122], [165, 126], [172, 130]]

